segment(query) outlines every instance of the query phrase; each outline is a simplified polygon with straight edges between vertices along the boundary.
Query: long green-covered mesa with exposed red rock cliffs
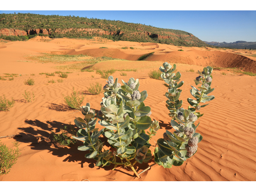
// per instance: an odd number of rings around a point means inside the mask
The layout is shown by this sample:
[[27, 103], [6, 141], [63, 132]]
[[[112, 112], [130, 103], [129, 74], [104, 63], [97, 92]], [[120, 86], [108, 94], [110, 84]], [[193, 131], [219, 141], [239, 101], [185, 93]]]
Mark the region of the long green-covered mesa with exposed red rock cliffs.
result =
[[[189, 32], [163, 29], [145, 24], [127, 23], [79, 16], [40, 14], [0, 14], [0, 38], [23, 39], [43, 34], [50, 38], [90, 38], [100, 36], [110, 40], [156, 42], [175, 46], [208, 46]], [[14, 38], [16, 36], [16, 38]]]

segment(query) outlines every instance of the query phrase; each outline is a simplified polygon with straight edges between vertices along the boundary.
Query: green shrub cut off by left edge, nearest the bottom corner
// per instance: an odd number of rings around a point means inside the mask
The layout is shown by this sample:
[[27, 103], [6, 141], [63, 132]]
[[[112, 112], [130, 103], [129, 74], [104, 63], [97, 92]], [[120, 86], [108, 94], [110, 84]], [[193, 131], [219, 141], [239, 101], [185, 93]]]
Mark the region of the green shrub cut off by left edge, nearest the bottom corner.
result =
[[14, 148], [8, 148], [0, 142], [0, 176], [8, 174], [10, 168], [16, 163], [20, 156], [18, 142], [14, 142]]

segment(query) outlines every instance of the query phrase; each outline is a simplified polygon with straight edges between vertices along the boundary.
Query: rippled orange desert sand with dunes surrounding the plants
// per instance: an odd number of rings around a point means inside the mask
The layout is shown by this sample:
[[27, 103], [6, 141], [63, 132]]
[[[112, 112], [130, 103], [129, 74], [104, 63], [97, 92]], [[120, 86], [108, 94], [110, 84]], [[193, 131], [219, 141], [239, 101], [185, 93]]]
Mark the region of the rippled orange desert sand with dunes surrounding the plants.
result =
[[[101, 48], [106, 47], [106, 48]], [[128, 47], [124, 49], [123, 47]], [[131, 49], [133, 47], [134, 49]], [[184, 51], [178, 51], [182, 49]], [[136, 61], [140, 56], [154, 52], [146, 60]], [[70, 60], [47, 60], [51, 55], [80, 55]], [[35, 37], [26, 42], [6, 42], [0, 44], [0, 76], [4, 73], [18, 74], [14, 80], [0, 80], [0, 96], [14, 98], [10, 111], [0, 112], [0, 137], [19, 134], [19, 137], [0, 138], [3, 144], [12, 148], [12, 142], [19, 142], [20, 157], [10, 172], [0, 176], [0, 181], [256, 181], [256, 76], [248, 76], [232, 70], [239, 68], [256, 72], [255, 50], [231, 50], [216, 48], [180, 47], [166, 44], [128, 42], [103, 38], [77, 40], [60, 38], [51, 40]], [[253, 56], [254, 55], [254, 56]], [[100, 57], [119, 60], [96, 61]], [[148, 73], [158, 70], [163, 62], [177, 64], [184, 81], [180, 99], [183, 108], [188, 107], [186, 99], [191, 98], [190, 85], [194, 86], [197, 70], [213, 66], [211, 94], [215, 99], [200, 110], [204, 116], [197, 122], [203, 136], [198, 151], [182, 164], [164, 169], [152, 166], [138, 179], [130, 168], [118, 166], [96, 167], [95, 160], [86, 159], [87, 152], [77, 150], [81, 144], [60, 146], [52, 140], [51, 131], [59, 133], [60, 128], [74, 125], [74, 118], [83, 115], [64, 103], [64, 96], [72, 89], [86, 94], [83, 104], [100, 110], [103, 92], [92, 95], [88, 92], [90, 84], [99, 82], [104, 86], [106, 79], [100, 78], [96, 70], [137, 69], [121, 76], [116, 71], [112, 76], [125, 82], [129, 78], [140, 80], [140, 92], [146, 90], [148, 98], [144, 101], [150, 106], [152, 120], [160, 122], [160, 130], [150, 140], [154, 151], [156, 141], [162, 138], [170, 126], [171, 118], [166, 108], [164, 81], [149, 78]], [[88, 68], [94, 72], [81, 72]], [[194, 72], [190, 72], [194, 69]], [[43, 72], [69, 71], [68, 78], [57, 82], [58, 74], [46, 78]], [[32, 78], [33, 86], [24, 84]], [[56, 83], [48, 83], [49, 80]], [[122, 83], [121, 83], [122, 84]], [[35, 100], [26, 103], [24, 91], [34, 92]], [[63, 96], [64, 94], [64, 96]], [[102, 129], [98, 123], [96, 128]], [[48, 139], [47, 139], [48, 138]], [[46, 139], [46, 140], [45, 140]], [[154, 162], [135, 164], [138, 173]]]

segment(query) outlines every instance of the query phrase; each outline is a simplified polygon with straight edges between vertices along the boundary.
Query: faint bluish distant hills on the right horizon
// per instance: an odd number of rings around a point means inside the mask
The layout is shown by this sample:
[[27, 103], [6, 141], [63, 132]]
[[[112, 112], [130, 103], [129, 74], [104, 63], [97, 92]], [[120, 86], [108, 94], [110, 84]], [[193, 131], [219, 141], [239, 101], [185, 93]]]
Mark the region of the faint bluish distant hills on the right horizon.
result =
[[218, 47], [226, 47], [226, 48], [236, 48], [236, 49], [256, 49], [256, 42], [246, 42], [246, 41], [236, 41], [233, 43], [226, 43], [226, 42], [207, 42], [204, 41], [206, 44], [218, 46]]

